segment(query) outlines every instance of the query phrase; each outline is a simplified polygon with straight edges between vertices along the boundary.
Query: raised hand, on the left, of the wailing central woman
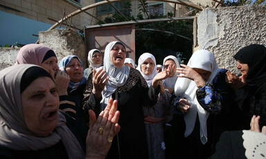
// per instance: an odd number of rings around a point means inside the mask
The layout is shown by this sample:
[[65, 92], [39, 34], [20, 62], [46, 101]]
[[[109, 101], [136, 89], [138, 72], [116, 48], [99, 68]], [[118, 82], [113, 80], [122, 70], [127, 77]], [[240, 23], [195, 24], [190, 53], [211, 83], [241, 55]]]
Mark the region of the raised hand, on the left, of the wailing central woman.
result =
[[107, 73], [103, 68], [100, 68], [98, 72], [96, 72], [95, 69], [93, 70], [92, 84], [94, 85], [94, 88], [92, 89], [92, 93], [94, 93], [96, 99], [100, 99], [108, 80], [109, 77], [107, 77]]

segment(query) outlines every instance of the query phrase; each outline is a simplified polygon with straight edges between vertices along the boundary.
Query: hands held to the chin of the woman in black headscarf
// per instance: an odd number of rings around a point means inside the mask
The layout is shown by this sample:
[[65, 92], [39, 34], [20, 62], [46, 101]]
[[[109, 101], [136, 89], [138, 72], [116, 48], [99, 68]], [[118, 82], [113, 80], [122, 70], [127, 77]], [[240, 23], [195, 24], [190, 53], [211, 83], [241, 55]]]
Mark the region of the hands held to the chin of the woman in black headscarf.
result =
[[237, 77], [234, 73], [227, 71], [227, 75], [225, 77], [225, 82], [234, 90], [242, 88], [246, 85], [246, 75], [242, 75], [241, 77]]

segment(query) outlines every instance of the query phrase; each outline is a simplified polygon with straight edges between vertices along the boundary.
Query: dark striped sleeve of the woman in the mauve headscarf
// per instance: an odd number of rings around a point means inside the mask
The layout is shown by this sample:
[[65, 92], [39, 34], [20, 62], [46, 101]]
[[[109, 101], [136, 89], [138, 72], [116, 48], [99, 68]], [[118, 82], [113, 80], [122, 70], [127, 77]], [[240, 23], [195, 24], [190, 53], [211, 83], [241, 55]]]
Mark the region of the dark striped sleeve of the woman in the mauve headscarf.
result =
[[76, 103], [71, 101], [69, 95], [60, 95], [59, 109], [66, 112], [71, 118], [76, 120]]

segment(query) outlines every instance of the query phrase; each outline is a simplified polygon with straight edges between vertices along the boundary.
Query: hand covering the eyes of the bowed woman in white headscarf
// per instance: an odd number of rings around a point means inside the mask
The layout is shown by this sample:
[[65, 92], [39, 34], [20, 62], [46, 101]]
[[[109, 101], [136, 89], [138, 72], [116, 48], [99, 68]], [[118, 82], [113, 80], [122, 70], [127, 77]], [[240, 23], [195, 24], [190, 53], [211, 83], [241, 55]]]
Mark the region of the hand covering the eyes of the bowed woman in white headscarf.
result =
[[205, 82], [203, 77], [197, 73], [197, 71], [193, 70], [193, 68], [190, 68], [189, 66], [186, 66], [185, 64], [181, 64], [184, 68], [177, 68], [177, 77], [185, 77], [188, 79], [193, 80], [197, 86], [200, 86]]

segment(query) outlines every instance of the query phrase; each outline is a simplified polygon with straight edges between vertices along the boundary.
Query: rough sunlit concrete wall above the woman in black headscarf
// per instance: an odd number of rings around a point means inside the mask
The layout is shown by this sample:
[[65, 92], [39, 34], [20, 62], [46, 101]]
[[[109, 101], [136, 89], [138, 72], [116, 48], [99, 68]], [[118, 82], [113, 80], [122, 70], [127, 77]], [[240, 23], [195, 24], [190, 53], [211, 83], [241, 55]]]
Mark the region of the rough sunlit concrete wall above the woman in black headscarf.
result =
[[266, 4], [203, 10], [197, 16], [197, 48], [215, 55], [220, 68], [234, 73], [240, 48], [250, 44], [266, 46]]

